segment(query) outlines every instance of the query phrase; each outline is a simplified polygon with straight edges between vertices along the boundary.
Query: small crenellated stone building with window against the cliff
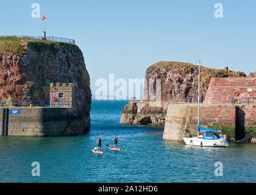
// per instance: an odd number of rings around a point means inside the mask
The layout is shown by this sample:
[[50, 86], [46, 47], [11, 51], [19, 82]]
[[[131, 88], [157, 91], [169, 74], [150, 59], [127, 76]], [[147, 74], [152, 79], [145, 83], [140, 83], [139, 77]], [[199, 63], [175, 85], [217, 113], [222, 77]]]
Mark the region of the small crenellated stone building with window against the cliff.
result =
[[50, 106], [72, 108], [74, 106], [75, 84], [74, 83], [51, 83]]

